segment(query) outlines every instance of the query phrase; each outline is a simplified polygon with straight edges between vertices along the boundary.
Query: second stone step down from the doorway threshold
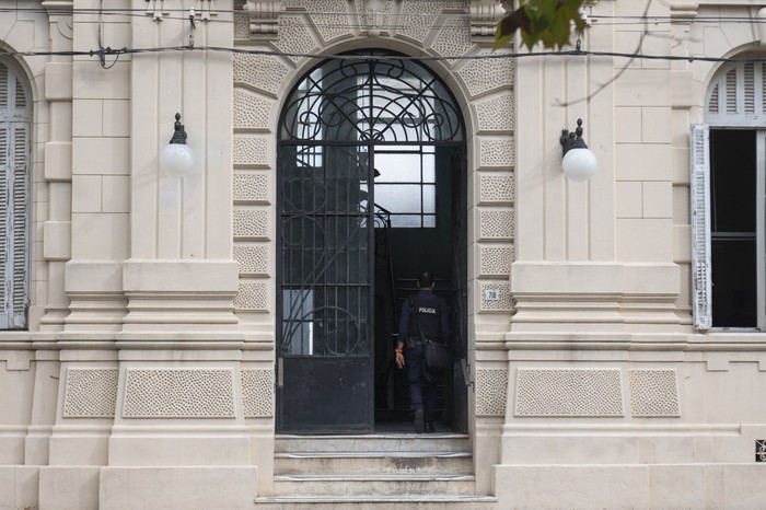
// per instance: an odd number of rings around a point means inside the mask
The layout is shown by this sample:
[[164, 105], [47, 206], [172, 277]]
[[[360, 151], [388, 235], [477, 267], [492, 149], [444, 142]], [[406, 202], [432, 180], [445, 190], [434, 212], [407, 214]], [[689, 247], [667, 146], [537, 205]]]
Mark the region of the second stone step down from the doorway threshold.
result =
[[469, 452], [292, 452], [275, 455], [277, 475], [468, 474]]

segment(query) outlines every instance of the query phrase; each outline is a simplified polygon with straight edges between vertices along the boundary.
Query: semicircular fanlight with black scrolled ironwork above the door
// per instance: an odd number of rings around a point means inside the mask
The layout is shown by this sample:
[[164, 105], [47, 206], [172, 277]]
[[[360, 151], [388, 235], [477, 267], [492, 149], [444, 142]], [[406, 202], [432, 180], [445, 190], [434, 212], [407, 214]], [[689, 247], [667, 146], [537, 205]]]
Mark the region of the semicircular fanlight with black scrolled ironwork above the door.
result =
[[457, 102], [430, 69], [378, 50], [345, 57], [320, 63], [293, 88], [279, 120], [280, 140], [465, 140]]

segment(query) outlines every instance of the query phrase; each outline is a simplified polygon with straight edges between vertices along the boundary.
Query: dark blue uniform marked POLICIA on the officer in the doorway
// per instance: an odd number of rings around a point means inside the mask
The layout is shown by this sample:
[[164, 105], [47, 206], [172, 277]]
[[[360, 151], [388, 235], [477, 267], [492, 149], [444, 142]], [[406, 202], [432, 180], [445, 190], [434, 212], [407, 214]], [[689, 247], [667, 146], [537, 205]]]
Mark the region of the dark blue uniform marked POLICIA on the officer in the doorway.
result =
[[[423, 409], [425, 420], [433, 421], [437, 405], [437, 378], [423, 374], [423, 345], [418, 333], [429, 340], [446, 343], [450, 335], [446, 302], [430, 290], [420, 290], [404, 301], [399, 321], [399, 339], [405, 345], [407, 358], [407, 381], [411, 408]], [[417, 321], [415, 318], [417, 314]], [[426, 401], [422, 398], [422, 387], [426, 389]]]

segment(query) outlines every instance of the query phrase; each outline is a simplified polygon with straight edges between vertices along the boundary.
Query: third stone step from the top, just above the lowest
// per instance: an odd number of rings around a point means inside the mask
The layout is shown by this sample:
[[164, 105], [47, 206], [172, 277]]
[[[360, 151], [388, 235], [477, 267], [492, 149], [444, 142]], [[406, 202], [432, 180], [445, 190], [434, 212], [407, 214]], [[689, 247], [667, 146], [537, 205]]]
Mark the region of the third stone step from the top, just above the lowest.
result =
[[473, 475], [276, 475], [276, 496], [403, 496], [473, 495]]

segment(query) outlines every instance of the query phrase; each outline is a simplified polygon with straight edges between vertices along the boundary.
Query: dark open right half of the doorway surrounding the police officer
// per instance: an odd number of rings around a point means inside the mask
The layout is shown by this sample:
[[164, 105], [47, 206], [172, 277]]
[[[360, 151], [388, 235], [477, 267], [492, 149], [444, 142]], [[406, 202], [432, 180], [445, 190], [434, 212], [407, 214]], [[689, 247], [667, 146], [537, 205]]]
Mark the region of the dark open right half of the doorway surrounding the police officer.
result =
[[[385, 149], [382, 152], [385, 154]], [[457, 359], [464, 359], [465, 333], [461, 317], [465, 312], [465, 285], [461, 277], [464, 259], [460, 254], [465, 252], [461, 232], [466, 225], [460, 212], [461, 197], [465, 194], [462, 148], [433, 148], [433, 217], [417, 225], [397, 223], [395, 219], [387, 225], [381, 221], [376, 228], [375, 281], [388, 283], [375, 286], [374, 417], [378, 429], [411, 430], [406, 371], [396, 368], [393, 353], [403, 301], [417, 292], [417, 276], [423, 270], [436, 276], [436, 293], [448, 300], [451, 341], [456, 347]], [[383, 165], [376, 164], [376, 170], [381, 174], [385, 172]], [[453, 250], [453, 246], [459, 248]], [[442, 426], [464, 431], [462, 415], [457, 416], [464, 414], [464, 405], [455, 401], [461, 401], [459, 393], [465, 389], [461, 379], [455, 384], [455, 375], [462, 379], [461, 367], [455, 373], [444, 374], [439, 385], [437, 409]]]

